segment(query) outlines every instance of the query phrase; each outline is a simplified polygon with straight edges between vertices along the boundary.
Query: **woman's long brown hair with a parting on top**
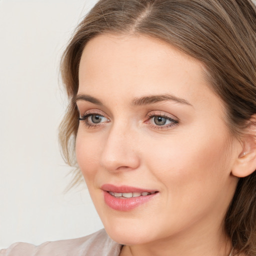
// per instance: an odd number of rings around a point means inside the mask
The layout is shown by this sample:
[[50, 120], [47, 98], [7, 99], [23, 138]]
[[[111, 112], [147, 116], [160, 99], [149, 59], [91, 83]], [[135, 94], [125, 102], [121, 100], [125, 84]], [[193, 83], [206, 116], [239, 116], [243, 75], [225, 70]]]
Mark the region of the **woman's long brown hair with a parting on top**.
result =
[[[78, 67], [86, 43], [102, 33], [144, 34], [204, 63], [212, 90], [226, 106], [227, 125], [239, 136], [256, 113], [256, 7], [250, 0], [100, 0], [78, 25], [64, 51], [61, 74], [69, 106], [59, 138], [76, 166]], [[76, 170], [78, 170], [76, 168]], [[76, 171], [73, 182], [80, 179]], [[256, 175], [240, 178], [225, 217], [237, 253], [256, 255]]]

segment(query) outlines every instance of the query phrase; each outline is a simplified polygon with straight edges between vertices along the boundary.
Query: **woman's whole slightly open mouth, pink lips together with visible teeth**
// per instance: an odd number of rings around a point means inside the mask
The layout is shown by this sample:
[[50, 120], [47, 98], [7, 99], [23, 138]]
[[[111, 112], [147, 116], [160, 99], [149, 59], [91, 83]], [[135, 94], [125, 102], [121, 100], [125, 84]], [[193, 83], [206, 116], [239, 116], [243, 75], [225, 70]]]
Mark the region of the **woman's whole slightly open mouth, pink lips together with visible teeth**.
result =
[[104, 184], [103, 190], [105, 203], [112, 209], [120, 211], [131, 210], [144, 202], [152, 199], [158, 191], [132, 186], [115, 186]]

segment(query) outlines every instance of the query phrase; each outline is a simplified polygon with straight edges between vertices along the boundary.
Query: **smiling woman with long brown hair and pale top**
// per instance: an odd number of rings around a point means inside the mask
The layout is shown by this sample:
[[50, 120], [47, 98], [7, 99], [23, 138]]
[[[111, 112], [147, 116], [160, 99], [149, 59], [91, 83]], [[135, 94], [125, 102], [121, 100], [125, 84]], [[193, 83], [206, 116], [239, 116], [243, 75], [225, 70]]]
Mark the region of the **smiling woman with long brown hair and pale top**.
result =
[[105, 231], [0, 255], [256, 255], [255, 52], [250, 0], [99, 1], [60, 140]]

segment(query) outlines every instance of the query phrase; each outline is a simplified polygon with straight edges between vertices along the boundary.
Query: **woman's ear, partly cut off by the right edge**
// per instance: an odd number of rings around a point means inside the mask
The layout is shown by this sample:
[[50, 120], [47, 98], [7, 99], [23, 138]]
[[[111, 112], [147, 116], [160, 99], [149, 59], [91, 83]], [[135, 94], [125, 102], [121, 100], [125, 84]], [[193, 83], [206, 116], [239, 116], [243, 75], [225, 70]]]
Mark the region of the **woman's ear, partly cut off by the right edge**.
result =
[[248, 176], [256, 169], [256, 115], [249, 120], [241, 145], [242, 150], [236, 156], [231, 170], [236, 177]]

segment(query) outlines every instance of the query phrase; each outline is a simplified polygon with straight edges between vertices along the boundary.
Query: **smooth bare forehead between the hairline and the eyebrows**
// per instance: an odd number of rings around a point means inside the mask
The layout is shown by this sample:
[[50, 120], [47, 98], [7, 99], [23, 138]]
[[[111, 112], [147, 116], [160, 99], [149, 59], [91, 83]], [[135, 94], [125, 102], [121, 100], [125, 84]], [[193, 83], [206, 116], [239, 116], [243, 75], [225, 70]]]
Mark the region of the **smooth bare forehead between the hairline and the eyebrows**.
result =
[[104, 99], [171, 93], [189, 102], [219, 104], [209, 89], [203, 64], [175, 47], [143, 35], [103, 34], [85, 46], [78, 93]]

